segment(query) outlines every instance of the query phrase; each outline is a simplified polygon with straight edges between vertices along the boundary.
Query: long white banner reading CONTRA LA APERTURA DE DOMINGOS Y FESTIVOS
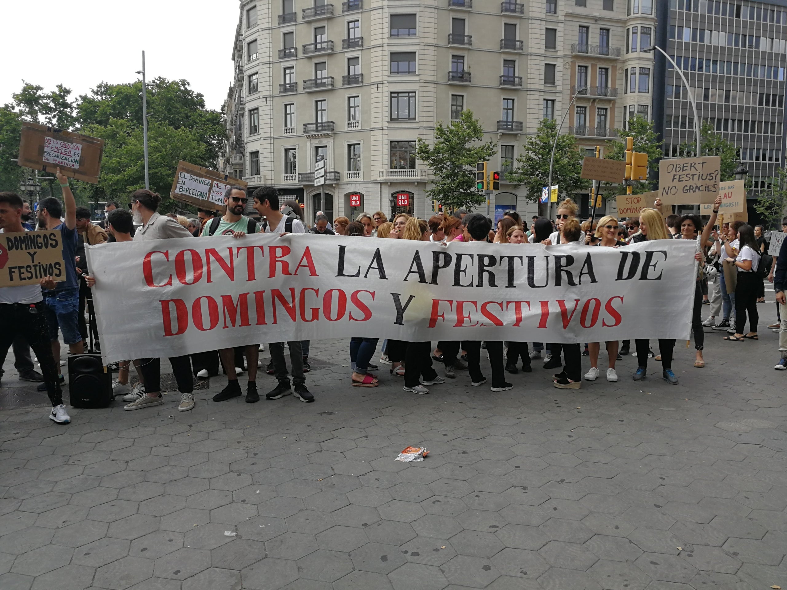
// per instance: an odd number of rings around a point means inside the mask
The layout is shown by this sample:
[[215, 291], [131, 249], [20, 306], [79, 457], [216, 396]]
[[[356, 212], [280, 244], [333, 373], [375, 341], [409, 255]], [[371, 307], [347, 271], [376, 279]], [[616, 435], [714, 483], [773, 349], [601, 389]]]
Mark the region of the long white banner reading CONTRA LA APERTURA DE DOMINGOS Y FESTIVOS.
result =
[[685, 340], [695, 289], [691, 240], [615, 249], [253, 234], [86, 249], [105, 363], [349, 336]]

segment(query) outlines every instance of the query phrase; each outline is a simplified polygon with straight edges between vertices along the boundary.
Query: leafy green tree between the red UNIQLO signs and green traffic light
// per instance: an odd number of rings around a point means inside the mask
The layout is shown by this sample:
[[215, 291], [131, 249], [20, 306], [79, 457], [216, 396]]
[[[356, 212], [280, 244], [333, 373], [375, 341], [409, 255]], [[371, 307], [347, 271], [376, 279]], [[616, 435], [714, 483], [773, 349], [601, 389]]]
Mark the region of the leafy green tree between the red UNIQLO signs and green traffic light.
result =
[[481, 124], [467, 109], [448, 125], [438, 122], [432, 146], [418, 138], [416, 157], [434, 172], [435, 179], [427, 190], [431, 199], [451, 210], [474, 208], [486, 200], [475, 188], [475, 164], [489, 160], [497, 153], [497, 146], [482, 139]]

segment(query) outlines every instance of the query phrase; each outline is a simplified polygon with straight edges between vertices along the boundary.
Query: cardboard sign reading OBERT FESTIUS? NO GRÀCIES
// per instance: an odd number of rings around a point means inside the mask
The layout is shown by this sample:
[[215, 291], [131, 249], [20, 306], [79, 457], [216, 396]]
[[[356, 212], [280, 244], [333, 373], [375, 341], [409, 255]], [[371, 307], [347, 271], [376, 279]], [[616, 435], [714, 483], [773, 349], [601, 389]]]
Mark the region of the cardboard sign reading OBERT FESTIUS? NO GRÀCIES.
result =
[[664, 205], [701, 205], [719, 196], [719, 156], [661, 160], [659, 197]]

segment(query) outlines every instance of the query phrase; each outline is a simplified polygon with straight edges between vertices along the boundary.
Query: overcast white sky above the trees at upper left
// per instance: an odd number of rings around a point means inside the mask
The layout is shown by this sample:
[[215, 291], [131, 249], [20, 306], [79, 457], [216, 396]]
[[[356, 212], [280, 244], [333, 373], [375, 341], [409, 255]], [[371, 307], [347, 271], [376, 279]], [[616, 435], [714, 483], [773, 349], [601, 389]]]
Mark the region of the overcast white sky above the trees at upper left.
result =
[[[145, 50], [147, 78], [187, 79], [220, 109], [232, 80], [238, 0], [54, 0], [2, 2], [0, 105], [22, 80], [72, 96], [102, 81], [138, 79]], [[57, 56], [60, 56], [58, 59]]]

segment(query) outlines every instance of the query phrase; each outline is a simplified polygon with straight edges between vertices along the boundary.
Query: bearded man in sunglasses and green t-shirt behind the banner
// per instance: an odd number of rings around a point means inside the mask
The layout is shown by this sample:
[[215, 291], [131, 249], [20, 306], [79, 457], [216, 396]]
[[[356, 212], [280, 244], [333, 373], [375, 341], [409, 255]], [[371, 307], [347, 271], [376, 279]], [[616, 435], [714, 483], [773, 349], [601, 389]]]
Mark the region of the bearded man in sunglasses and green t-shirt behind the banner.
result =
[[[224, 204], [227, 211], [224, 216], [210, 219], [202, 228], [202, 236], [212, 235], [231, 235], [234, 238], [242, 238], [246, 234], [257, 234], [260, 227], [253, 219], [243, 216], [243, 209], [246, 208], [246, 189], [242, 186], [232, 186], [230, 193], [224, 197]], [[253, 404], [260, 400], [257, 393], [257, 360], [260, 356], [260, 345], [247, 345], [246, 363], [249, 364], [249, 385], [246, 387], [246, 403]], [[224, 372], [227, 373], [227, 387], [213, 396], [213, 401], [226, 401], [232, 397], [241, 396], [241, 386], [238, 384], [238, 375], [235, 372], [235, 348], [222, 348], [219, 351], [221, 363], [224, 365]]]

